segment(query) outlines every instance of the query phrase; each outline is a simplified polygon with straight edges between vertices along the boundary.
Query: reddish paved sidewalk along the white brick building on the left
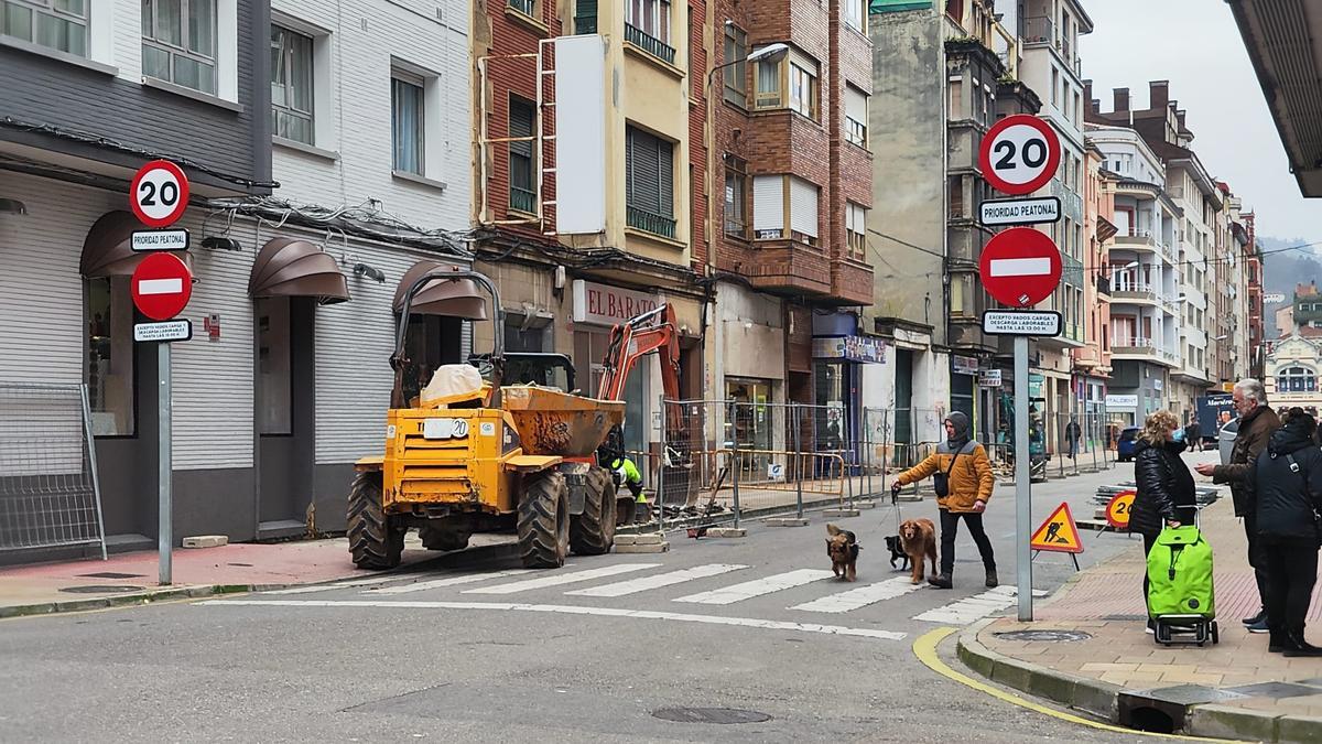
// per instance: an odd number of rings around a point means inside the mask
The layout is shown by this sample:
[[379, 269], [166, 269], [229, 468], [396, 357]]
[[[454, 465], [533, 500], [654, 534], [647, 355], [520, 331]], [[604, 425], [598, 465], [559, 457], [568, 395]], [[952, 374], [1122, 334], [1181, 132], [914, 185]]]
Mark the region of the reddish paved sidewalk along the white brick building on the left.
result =
[[[500, 552], [514, 535], [473, 535], [464, 553]], [[405, 541], [395, 571], [443, 555], [422, 547], [416, 534]], [[512, 553], [513, 555], [513, 553]], [[175, 548], [173, 584], [156, 584], [156, 551], [112, 555], [0, 569], [0, 618], [90, 610], [230, 592], [279, 589], [340, 580], [371, 581], [378, 572], [358, 571], [344, 537], [299, 543], [239, 543], [219, 548]]]

